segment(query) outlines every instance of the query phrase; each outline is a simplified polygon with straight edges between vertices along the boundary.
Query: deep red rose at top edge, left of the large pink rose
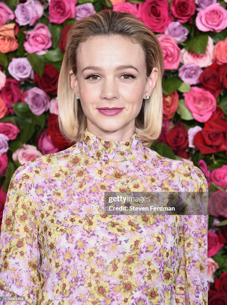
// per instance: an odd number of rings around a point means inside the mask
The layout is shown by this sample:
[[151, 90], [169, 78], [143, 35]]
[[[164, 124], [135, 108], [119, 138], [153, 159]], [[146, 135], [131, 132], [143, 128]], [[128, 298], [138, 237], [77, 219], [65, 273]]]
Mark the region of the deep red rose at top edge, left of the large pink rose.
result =
[[194, 0], [172, 0], [170, 4], [173, 16], [181, 23], [192, 23], [192, 15], [196, 11]]

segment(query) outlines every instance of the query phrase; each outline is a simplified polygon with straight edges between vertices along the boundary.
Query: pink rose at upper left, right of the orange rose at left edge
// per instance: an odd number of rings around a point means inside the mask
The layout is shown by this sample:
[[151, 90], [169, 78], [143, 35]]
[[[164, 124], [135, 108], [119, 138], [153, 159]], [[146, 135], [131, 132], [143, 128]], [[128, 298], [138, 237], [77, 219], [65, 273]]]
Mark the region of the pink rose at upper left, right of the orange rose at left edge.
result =
[[37, 23], [33, 30], [23, 32], [27, 39], [23, 46], [28, 53], [42, 55], [52, 46], [52, 35], [48, 26], [43, 23]]

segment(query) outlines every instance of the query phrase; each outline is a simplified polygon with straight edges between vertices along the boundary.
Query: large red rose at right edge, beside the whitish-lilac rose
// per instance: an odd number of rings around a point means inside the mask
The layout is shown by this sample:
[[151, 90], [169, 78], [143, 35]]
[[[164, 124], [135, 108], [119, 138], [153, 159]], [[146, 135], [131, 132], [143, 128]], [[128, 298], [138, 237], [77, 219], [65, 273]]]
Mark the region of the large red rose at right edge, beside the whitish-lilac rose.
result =
[[222, 119], [209, 120], [193, 139], [194, 145], [204, 154], [223, 152], [227, 149], [227, 122]]

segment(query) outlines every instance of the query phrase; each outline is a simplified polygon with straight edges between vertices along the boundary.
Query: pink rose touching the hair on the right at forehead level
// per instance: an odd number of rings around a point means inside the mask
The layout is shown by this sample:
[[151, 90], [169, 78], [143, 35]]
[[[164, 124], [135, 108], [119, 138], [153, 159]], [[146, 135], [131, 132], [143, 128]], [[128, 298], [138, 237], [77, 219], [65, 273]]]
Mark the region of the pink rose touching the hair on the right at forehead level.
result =
[[165, 70], [177, 69], [181, 61], [181, 49], [177, 41], [170, 35], [163, 34], [158, 37], [161, 44]]

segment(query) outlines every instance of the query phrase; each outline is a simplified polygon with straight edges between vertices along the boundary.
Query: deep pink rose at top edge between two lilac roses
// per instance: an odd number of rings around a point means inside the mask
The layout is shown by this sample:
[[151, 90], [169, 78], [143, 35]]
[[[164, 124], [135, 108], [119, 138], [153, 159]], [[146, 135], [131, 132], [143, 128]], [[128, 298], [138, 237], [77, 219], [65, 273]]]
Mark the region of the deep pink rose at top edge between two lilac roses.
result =
[[77, 0], [50, 0], [49, 22], [63, 23], [66, 19], [75, 18]]

